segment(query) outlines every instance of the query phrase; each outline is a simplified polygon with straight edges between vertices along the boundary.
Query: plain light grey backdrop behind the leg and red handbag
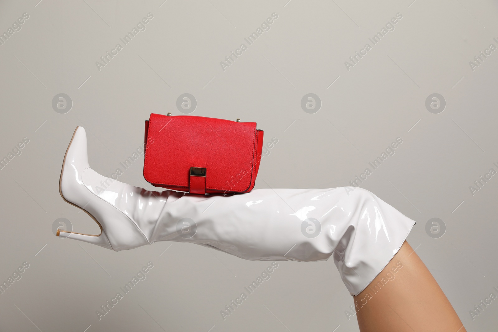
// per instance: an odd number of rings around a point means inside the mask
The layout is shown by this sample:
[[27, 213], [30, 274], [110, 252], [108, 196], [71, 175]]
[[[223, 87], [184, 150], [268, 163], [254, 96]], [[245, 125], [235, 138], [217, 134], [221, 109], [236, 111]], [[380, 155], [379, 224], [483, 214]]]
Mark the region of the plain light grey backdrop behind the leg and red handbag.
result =
[[[401, 137], [361, 186], [417, 221], [408, 241], [467, 331], [496, 330], [496, 301], [469, 314], [498, 295], [498, 175], [469, 189], [498, 170], [498, 50], [469, 65], [498, 46], [496, 1], [38, 1], [0, 2], [1, 33], [29, 14], [0, 45], [0, 157], [29, 139], [0, 170], [0, 280], [29, 263], [0, 295], [0, 331], [358, 331], [332, 261], [278, 263], [224, 321], [220, 311], [269, 262], [189, 243], [113, 252], [53, 235], [57, 218], [99, 231], [58, 192], [75, 127], [87, 129], [92, 167], [110, 175], [143, 143], [150, 112], [182, 114], [183, 93], [197, 100], [192, 115], [256, 121], [265, 142], [278, 139], [256, 188], [350, 185]], [[149, 12], [146, 29], [99, 71], [96, 61]], [[273, 12], [270, 30], [224, 71], [220, 62]], [[348, 71], [345, 61], [398, 12], [395, 29]], [[52, 109], [59, 93], [73, 101], [68, 113]], [[308, 93], [322, 102], [314, 114], [300, 106]], [[439, 114], [425, 108], [433, 93], [447, 103]], [[120, 180], [152, 189], [142, 165]], [[426, 233], [431, 218], [445, 222], [444, 236]], [[99, 321], [96, 311], [148, 261], [146, 279]]]

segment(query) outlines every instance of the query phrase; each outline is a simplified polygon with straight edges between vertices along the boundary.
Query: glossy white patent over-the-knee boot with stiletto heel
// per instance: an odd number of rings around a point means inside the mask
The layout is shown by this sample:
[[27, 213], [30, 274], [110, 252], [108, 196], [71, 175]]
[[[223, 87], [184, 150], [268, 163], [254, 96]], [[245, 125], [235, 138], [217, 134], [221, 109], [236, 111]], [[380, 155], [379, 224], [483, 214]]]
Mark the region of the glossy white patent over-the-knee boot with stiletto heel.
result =
[[249, 260], [319, 261], [334, 254], [352, 295], [387, 265], [415, 223], [355, 187], [226, 196], [133, 187], [90, 168], [82, 127], [66, 152], [60, 192], [102, 229], [100, 236], [64, 231], [60, 236], [116, 251], [156, 241], [192, 242]]

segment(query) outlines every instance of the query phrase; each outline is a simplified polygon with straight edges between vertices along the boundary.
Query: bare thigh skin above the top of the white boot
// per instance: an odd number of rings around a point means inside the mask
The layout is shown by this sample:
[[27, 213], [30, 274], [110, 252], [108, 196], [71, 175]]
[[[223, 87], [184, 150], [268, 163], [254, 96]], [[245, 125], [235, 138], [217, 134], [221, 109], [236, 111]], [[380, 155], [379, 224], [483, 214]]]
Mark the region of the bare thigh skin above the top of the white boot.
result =
[[361, 332], [466, 332], [438, 283], [406, 241], [354, 301]]

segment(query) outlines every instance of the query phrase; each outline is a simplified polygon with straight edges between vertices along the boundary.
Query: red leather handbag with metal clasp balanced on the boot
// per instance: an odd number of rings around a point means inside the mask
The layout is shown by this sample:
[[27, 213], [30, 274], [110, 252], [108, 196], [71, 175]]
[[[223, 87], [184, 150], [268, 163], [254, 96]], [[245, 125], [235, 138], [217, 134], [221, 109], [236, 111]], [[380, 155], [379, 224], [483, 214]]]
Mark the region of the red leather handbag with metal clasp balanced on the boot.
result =
[[254, 187], [263, 130], [256, 122], [150, 114], [143, 177], [191, 194], [247, 193]]

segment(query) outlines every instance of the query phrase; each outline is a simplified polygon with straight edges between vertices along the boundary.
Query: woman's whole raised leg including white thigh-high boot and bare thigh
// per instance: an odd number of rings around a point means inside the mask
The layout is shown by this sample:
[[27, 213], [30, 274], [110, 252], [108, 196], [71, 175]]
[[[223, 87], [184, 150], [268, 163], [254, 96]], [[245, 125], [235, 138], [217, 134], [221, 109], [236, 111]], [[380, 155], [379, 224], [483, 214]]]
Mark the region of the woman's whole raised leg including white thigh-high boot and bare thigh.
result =
[[227, 196], [147, 191], [92, 170], [79, 127], [66, 152], [60, 191], [102, 226], [100, 236], [66, 232], [68, 237], [114, 250], [191, 242], [249, 260], [332, 256], [344, 284], [357, 295], [362, 331], [462, 327], [404, 241], [414, 221], [365, 189], [257, 189]]

